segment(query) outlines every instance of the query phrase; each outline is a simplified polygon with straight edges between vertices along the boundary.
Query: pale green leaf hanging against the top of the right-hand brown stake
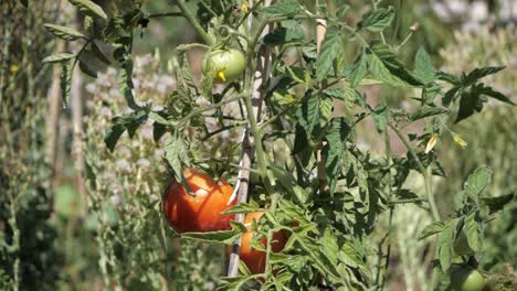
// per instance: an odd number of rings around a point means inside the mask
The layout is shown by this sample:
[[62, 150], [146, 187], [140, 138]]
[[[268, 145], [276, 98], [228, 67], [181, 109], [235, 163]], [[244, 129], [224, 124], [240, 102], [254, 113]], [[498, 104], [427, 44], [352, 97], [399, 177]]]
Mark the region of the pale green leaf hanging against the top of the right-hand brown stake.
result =
[[316, 76], [318, 80], [323, 80], [333, 69], [334, 60], [342, 50], [344, 37], [335, 26], [327, 29], [325, 39], [321, 43], [321, 48], [316, 60]]

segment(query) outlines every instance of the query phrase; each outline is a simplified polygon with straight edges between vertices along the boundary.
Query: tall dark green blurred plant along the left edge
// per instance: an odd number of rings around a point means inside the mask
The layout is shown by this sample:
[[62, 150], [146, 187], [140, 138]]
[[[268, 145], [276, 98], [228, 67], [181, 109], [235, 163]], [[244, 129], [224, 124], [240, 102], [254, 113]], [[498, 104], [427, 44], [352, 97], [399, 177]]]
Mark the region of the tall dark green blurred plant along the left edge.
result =
[[51, 290], [62, 277], [55, 247], [52, 172], [45, 163], [51, 48], [43, 19], [54, 1], [0, 4], [0, 289]]

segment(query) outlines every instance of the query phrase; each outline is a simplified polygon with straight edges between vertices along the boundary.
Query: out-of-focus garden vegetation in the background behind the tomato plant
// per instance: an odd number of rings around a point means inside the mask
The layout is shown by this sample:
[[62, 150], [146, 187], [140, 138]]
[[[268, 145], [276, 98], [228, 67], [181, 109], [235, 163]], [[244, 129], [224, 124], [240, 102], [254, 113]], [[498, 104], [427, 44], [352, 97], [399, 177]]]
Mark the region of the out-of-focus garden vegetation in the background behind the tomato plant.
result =
[[[96, 2], [120, 6], [125, 1]], [[224, 265], [222, 249], [179, 244], [159, 216], [159, 200], [169, 175], [150, 125], [145, 123], [133, 139], [124, 133], [113, 153], [105, 147], [104, 125], [126, 110], [117, 89], [117, 68], [104, 68], [95, 80], [74, 75], [73, 99], [70, 108], [63, 110], [60, 69], [43, 66], [41, 60], [52, 51], [71, 47], [49, 43], [51, 36], [43, 23], [82, 20], [67, 1], [29, 1], [28, 8], [23, 2], [2, 1], [0, 11], [0, 289], [55, 290], [56, 285], [60, 290], [213, 289]], [[149, 14], [171, 9], [167, 0], [144, 2]], [[387, 35], [398, 42], [412, 35], [399, 51], [403, 58], [413, 60], [423, 45], [433, 63], [451, 73], [506, 64], [507, 69], [486, 82], [514, 98], [515, 1], [384, 2], [401, 9], [398, 29]], [[191, 8], [198, 3], [189, 1]], [[348, 3], [355, 10], [349, 15], [358, 18], [366, 12], [365, 1]], [[347, 21], [355, 23], [358, 19]], [[413, 26], [415, 22], [420, 28]], [[176, 88], [172, 66], [168, 65], [171, 47], [194, 41], [196, 33], [182, 18], [152, 18], [141, 35], [135, 42], [135, 96], [139, 101], [162, 106]], [[148, 54], [157, 47], [162, 53]], [[193, 50], [188, 55], [194, 77], [201, 53]], [[411, 97], [378, 87], [368, 88], [368, 96], [401, 105]], [[494, 169], [487, 193], [497, 196], [517, 188], [515, 110], [490, 105], [471, 120], [451, 126], [468, 143], [466, 149], [457, 147], [452, 137], [444, 136], [440, 141], [439, 153], [449, 176], [446, 183], [435, 182], [443, 214], [450, 213], [454, 194], [479, 164]], [[223, 114], [240, 116], [238, 108], [228, 108]], [[211, 121], [203, 134], [224, 126], [210, 116], [213, 112], [207, 115], [203, 118]], [[363, 147], [378, 147], [377, 134], [369, 132], [367, 129], [358, 132]], [[229, 138], [239, 138], [238, 132], [210, 137], [217, 147], [201, 148], [194, 153], [201, 158], [221, 154], [215, 175], [234, 171], [229, 170], [231, 165], [225, 160], [225, 154], [234, 155], [238, 150], [223, 142]], [[401, 153], [397, 142], [393, 137], [393, 151]], [[82, 160], [86, 166], [82, 166]], [[89, 183], [93, 175], [96, 182]], [[421, 181], [415, 177], [410, 183], [418, 188]], [[418, 207], [394, 207], [391, 224], [389, 214], [380, 218], [380, 226], [384, 227], [371, 235], [370, 249], [377, 250], [383, 241], [381, 254], [388, 249], [391, 252], [388, 271], [381, 273], [389, 289], [420, 290], [429, 280], [424, 277], [429, 265], [422, 261], [430, 255], [418, 236], [430, 217]], [[489, 225], [484, 267], [515, 273], [516, 225], [517, 202], [514, 202]], [[388, 227], [393, 228], [392, 237], [384, 239]], [[378, 263], [377, 254], [372, 258], [369, 260], [372, 270], [378, 265], [386, 269], [383, 262]]]

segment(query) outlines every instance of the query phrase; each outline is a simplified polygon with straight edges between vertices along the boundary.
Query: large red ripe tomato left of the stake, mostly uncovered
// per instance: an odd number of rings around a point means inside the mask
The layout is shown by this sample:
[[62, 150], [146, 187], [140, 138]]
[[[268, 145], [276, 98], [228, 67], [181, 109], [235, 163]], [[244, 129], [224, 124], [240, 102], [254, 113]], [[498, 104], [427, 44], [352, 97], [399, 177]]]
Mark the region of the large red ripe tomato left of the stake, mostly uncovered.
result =
[[169, 225], [178, 233], [231, 229], [230, 220], [235, 215], [221, 213], [236, 202], [233, 200], [226, 205], [232, 196], [232, 186], [223, 180], [218, 184], [196, 169], [184, 170], [183, 176], [196, 196], [190, 195], [177, 181], [169, 185], [163, 197], [163, 214]]

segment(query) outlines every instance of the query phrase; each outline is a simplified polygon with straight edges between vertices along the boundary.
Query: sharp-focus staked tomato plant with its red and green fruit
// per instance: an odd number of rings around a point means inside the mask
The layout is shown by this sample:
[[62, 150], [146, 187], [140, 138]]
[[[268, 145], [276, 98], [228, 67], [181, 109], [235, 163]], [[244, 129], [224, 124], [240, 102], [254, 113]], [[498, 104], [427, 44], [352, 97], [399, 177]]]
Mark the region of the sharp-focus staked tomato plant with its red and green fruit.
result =
[[[421, 207], [433, 220], [420, 235], [421, 240], [434, 238], [422, 260], [432, 262], [431, 290], [456, 255], [472, 266], [481, 259], [485, 226], [514, 194], [484, 193], [492, 177], [484, 165], [458, 190], [461, 205], [450, 213], [439, 208], [434, 186], [446, 176], [440, 141], [452, 138], [466, 147], [452, 130], [455, 125], [482, 111], [489, 99], [515, 105], [484, 83], [503, 65], [456, 76], [437, 68], [423, 43], [414, 56], [401, 55], [418, 25], [397, 28], [397, 9], [384, 1], [360, 10], [327, 6], [333, 1], [253, 1], [251, 7], [201, 1], [194, 14], [177, 0], [177, 11], [155, 15], [140, 1], [128, 2], [131, 9], [106, 13], [92, 1], [73, 1], [89, 18], [84, 33], [46, 28], [83, 46], [45, 62], [63, 67], [66, 100], [77, 62], [95, 77], [82, 54], [92, 52], [103, 61], [97, 42], [113, 51], [129, 111], [113, 118], [107, 149], [117, 150], [124, 132], [133, 137], [151, 120], [156, 147], [162, 148], [176, 181], [168, 186], [162, 214], [177, 236], [231, 246], [225, 276], [218, 282], [222, 289], [254, 288], [257, 281], [263, 290], [383, 289], [393, 256], [392, 217], [404, 204]], [[157, 18], [178, 15], [203, 43], [176, 47], [168, 65], [177, 87], [163, 106], [136, 101], [135, 31]], [[407, 36], [398, 39], [399, 29]], [[186, 56], [199, 46], [208, 51], [200, 83]], [[372, 87], [382, 95], [370, 98]], [[399, 95], [409, 106], [391, 101]], [[382, 140], [382, 150], [361, 147], [365, 132]], [[222, 140], [230, 146], [221, 147]], [[402, 147], [397, 151], [395, 142]], [[184, 171], [201, 166], [229, 177], [236, 202], [228, 183]], [[410, 174], [422, 185], [409, 183], [416, 180]], [[388, 227], [378, 227], [382, 219]], [[260, 227], [246, 225], [253, 220]], [[472, 251], [454, 254], [462, 241]], [[251, 272], [239, 269], [240, 260]], [[471, 272], [474, 281], [476, 272]]]

